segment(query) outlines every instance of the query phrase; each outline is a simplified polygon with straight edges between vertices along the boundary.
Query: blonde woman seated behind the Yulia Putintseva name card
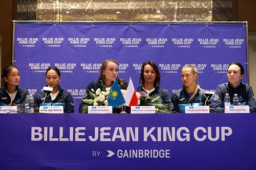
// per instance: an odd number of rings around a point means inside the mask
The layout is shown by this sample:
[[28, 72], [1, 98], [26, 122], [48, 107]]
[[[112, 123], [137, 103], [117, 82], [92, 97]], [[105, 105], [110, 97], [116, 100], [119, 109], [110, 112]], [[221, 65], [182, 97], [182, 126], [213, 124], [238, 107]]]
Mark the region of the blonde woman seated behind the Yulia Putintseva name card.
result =
[[183, 87], [173, 93], [170, 110], [185, 113], [185, 106], [203, 106], [206, 101], [204, 92], [197, 83], [198, 71], [194, 65], [185, 65], [181, 69]]

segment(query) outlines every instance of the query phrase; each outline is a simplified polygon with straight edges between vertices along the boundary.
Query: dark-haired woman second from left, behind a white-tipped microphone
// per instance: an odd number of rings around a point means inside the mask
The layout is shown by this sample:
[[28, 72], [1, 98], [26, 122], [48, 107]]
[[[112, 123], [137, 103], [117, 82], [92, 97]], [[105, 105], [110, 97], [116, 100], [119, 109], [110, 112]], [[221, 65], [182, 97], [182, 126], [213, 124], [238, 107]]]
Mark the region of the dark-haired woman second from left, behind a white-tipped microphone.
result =
[[63, 106], [64, 113], [74, 113], [74, 101], [70, 92], [60, 88], [60, 71], [56, 67], [46, 70], [46, 82], [53, 90], [50, 95], [44, 92], [37, 94], [34, 98], [34, 108], [40, 106]]

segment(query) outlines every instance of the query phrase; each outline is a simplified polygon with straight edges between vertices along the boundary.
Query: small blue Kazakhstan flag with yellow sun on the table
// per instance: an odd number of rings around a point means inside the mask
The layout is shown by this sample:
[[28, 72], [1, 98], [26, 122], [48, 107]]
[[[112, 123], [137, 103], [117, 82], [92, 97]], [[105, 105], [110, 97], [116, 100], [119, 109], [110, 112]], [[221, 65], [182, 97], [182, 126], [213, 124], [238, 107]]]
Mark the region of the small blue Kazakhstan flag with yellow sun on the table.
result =
[[112, 106], [112, 108], [115, 108], [125, 103], [120, 87], [118, 86], [117, 78], [111, 87], [110, 94], [108, 96], [108, 103], [109, 106]]

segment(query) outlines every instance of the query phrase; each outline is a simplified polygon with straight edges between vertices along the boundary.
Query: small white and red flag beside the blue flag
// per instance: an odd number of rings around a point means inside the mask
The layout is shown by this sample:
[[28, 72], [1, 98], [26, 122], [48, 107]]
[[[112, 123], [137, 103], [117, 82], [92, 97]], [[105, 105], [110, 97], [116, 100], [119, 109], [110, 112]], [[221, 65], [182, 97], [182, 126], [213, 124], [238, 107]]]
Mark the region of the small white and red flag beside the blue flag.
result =
[[138, 106], [138, 98], [136, 96], [136, 93], [135, 93], [135, 89], [134, 89], [134, 86], [133, 86], [133, 81], [130, 77], [130, 80], [129, 80], [129, 85], [126, 89], [126, 93], [125, 95], [123, 96], [124, 100], [125, 100], [125, 104], [126, 106]]

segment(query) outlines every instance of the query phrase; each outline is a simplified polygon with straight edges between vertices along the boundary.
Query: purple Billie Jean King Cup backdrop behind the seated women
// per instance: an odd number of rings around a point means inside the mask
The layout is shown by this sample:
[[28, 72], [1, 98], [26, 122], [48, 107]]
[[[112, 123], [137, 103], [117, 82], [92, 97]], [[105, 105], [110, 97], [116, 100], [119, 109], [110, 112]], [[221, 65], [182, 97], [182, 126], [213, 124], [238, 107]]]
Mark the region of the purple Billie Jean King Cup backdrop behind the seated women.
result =
[[[31, 94], [46, 85], [45, 71], [61, 70], [60, 86], [71, 92], [75, 112], [88, 83], [99, 77], [103, 60], [119, 63], [119, 77], [135, 88], [141, 64], [154, 61], [161, 72], [161, 86], [170, 95], [182, 87], [180, 70], [195, 64], [198, 82], [207, 90], [227, 81], [228, 63], [246, 68], [246, 27], [239, 24], [195, 23], [16, 23], [14, 60], [20, 86]], [[247, 75], [245, 74], [244, 82]]]

